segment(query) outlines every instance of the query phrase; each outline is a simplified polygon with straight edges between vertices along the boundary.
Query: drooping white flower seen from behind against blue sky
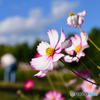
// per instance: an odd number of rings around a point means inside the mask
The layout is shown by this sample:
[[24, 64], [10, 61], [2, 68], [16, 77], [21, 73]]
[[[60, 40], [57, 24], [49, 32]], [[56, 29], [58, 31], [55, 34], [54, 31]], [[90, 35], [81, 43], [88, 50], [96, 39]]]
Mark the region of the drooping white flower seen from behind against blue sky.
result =
[[73, 12], [69, 13], [69, 17], [67, 18], [67, 25], [77, 27], [79, 25], [81, 27], [84, 22], [84, 16], [86, 14], [86, 10], [81, 13], [74, 14]]

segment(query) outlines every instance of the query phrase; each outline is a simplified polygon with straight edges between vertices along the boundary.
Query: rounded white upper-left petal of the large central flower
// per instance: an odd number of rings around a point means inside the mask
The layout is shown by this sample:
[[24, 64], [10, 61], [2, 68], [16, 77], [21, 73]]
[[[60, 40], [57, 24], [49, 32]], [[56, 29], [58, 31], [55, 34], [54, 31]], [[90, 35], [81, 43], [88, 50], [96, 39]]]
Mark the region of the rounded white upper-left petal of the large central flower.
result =
[[40, 55], [46, 55], [45, 50], [46, 48], [50, 47], [50, 45], [47, 42], [41, 42], [39, 43], [39, 45], [37, 46], [37, 51]]

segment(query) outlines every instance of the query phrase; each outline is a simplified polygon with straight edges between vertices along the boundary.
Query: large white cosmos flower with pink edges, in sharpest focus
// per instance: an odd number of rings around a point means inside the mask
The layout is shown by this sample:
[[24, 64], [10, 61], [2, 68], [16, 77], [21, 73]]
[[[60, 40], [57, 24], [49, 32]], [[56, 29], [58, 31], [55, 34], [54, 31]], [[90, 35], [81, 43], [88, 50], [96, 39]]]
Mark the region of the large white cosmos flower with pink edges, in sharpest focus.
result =
[[[46, 74], [53, 70], [54, 63], [57, 62], [61, 57], [64, 57], [64, 54], [60, 53], [62, 51], [61, 44], [65, 41], [66, 36], [61, 29], [61, 38], [58, 42], [59, 36], [58, 32], [55, 29], [49, 30], [48, 36], [50, 39], [50, 44], [47, 42], [41, 42], [37, 46], [37, 52], [41, 57], [33, 58], [31, 60], [31, 66], [40, 72], [34, 76], [44, 77]], [[69, 47], [69, 45], [68, 45]]]

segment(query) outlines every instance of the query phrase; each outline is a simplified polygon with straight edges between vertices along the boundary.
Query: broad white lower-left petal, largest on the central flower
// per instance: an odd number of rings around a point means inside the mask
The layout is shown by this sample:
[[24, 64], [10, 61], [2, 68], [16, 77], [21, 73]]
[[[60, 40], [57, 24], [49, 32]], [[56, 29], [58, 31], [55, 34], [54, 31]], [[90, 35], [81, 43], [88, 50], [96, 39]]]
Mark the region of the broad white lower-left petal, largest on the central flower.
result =
[[52, 57], [48, 56], [33, 58], [30, 63], [35, 70], [39, 71], [52, 71], [54, 67]]

